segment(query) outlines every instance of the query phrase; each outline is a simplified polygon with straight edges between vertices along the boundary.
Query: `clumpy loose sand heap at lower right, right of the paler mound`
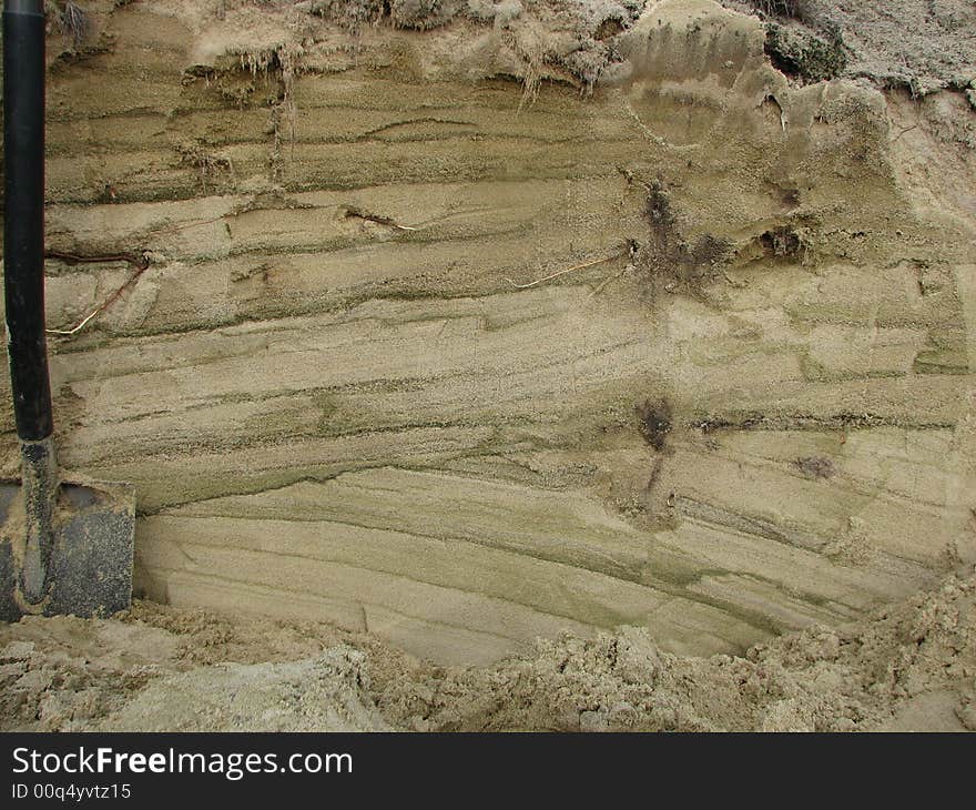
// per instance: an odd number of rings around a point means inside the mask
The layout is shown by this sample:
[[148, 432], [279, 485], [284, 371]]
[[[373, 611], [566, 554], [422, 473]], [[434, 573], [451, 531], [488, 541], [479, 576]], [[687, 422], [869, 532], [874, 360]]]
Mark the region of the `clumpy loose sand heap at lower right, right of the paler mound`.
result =
[[953, 577], [870, 621], [810, 628], [745, 657], [668, 655], [626, 627], [392, 685], [380, 706], [418, 729], [972, 730], [974, 624], [976, 579]]

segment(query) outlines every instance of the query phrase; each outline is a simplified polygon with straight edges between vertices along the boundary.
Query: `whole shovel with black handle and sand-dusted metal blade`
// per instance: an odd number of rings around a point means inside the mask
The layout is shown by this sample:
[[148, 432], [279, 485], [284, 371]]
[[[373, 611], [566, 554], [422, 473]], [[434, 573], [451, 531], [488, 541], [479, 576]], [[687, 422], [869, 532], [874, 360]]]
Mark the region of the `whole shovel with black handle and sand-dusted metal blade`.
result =
[[0, 483], [0, 620], [108, 616], [132, 600], [135, 494], [62, 480], [44, 338], [44, 14], [3, 8], [3, 287], [20, 482]]

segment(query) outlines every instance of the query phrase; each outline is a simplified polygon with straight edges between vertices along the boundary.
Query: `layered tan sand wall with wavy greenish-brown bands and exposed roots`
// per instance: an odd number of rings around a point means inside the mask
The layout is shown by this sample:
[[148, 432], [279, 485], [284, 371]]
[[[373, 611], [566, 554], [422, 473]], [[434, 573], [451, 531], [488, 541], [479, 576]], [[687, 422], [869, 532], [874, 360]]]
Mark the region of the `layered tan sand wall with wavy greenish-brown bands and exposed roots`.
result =
[[52, 337], [61, 456], [136, 484], [141, 593], [711, 654], [976, 559], [964, 93], [801, 87], [698, 0], [298, 6], [51, 39], [49, 325], [139, 273]]

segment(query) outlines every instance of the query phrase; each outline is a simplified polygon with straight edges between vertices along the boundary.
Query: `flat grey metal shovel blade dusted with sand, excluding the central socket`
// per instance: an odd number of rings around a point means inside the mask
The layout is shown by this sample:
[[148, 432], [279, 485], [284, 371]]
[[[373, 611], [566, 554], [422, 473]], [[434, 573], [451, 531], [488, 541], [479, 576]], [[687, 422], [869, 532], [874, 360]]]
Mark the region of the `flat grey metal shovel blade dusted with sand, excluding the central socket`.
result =
[[64, 483], [58, 498], [49, 597], [21, 591], [23, 503], [17, 482], [0, 483], [0, 621], [24, 615], [111, 616], [132, 604], [135, 489], [129, 484]]

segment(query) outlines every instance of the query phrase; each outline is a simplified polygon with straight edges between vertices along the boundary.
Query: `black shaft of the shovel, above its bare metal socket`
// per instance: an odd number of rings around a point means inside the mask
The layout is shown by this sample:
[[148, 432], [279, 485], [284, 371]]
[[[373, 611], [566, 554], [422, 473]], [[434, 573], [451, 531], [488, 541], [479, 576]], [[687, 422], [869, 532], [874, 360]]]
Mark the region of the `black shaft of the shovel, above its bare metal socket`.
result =
[[3, 7], [3, 274], [17, 435], [53, 432], [44, 337], [44, 14], [42, 0]]

